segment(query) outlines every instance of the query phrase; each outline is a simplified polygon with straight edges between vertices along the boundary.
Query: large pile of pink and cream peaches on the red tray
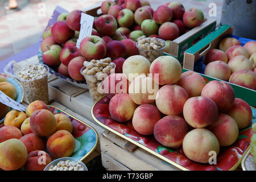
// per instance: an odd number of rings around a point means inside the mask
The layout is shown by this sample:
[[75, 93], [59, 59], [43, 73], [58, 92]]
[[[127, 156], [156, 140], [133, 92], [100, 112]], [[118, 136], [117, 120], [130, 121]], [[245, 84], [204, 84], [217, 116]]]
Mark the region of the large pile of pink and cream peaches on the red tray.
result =
[[151, 64], [143, 56], [127, 58], [123, 73], [104, 80], [104, 92], [115, 121], [131, 120], [139, 134], [154, 135], [166, 147], [182, 146], [199, 163], [208, 163], [210, 151], [218, 154], [220, 147], [236, 142], [239, 129], [253, 117], [250, 105], [236, 98], [228, 82], [206, 84], [199, 73], [181, 73], [172, 56], [160, 56]]

